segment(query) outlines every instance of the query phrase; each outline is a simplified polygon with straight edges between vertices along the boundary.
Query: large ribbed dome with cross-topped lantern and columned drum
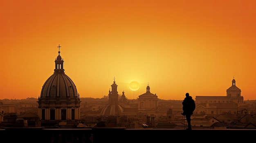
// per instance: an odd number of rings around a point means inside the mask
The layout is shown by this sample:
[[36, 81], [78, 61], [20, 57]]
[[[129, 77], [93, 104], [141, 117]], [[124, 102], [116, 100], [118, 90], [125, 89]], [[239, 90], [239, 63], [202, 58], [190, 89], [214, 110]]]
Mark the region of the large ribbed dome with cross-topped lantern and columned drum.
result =
[[[61, 46], [58, 46], [60, 48]], [[38, 97], [38, 115], [41, 125], [80, 119], [80, 99], [74, 82], [65, 75], [60, 51], [55, 59], [55, 69], [43, 84]]]

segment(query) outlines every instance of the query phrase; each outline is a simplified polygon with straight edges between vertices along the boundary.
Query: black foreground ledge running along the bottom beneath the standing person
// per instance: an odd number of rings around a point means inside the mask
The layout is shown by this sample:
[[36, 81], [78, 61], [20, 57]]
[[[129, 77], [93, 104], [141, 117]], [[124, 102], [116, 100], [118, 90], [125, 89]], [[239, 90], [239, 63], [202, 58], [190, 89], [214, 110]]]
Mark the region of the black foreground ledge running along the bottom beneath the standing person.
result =
[[236, 129], [44, 129], [6, 128], [1, 143], [236, 143], [255, 142], [256, 130]]

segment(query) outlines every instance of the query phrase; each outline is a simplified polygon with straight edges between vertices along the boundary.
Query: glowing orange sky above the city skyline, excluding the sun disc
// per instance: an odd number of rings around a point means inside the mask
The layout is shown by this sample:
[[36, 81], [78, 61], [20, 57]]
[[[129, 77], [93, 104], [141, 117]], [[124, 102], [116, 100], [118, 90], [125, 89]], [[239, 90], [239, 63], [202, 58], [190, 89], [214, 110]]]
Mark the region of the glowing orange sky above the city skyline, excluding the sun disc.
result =
[[[256, 99], [255, 0], [2, 0], [0, 99], [38, 98], [63, 68], [80, 97]], [[137, 91], [129, 83], [137, 81]]]

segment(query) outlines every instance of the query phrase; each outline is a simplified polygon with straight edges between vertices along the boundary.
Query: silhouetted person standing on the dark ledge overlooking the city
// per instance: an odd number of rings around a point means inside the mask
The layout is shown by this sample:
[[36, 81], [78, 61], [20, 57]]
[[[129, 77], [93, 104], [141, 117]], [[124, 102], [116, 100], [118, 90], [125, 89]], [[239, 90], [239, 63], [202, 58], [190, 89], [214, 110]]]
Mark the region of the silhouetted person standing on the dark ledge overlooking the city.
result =
[[192, 99], [191, 96], [189, 96], [189, 93], [186, 93], [186, 97], [182, 102], [182, 115], [186, 116], [186, 121], [188, 122], [188, 128], [186, 130], [191, 130], [191, 115], [193, 114], [193, 111], [195, 110], [195, 101]]

